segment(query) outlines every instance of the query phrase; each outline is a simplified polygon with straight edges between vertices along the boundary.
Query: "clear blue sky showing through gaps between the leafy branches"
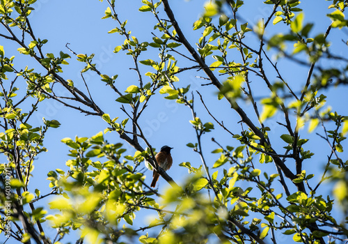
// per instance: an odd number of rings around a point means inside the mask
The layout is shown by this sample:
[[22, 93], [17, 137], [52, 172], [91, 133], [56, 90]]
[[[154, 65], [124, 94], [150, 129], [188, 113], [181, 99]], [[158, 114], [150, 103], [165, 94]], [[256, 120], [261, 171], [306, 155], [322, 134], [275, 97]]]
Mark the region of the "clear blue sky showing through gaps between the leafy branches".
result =
[[[170, 1], [173, 12], [177, 13], [177, 21], [184, 33], [189, 34], [188, 39], [191, 44], [197, 42], [198, 37], [201, 35], [203, 30], [196, 31], [192, 33], [192, 24], [195, 22], [201, 13], [203, 13], [201, 0], [193, 1], [182, 1], [175, 0]], [[262, 4], [262, 1], [245, 1], [248, 10], [244, 10], [240, 15], [249, 24], [255, 24], [260, 18], [268, 17], [271, 13], [271, 6]], [[326, 31], [327, 26], [330, 24], [329, 18], [322, 17], [318, 18], [318, 15], [322, 13], [330, 13], [327, 7], [331, 1], [303, 1], [301, 3], [301, 8], [305, 11], [305, 22], [314, 22], [315, 27], [313, 33], [320, 33]], [[140, 13], [138, 9], [143, 4], [141, 1], [116, 1], [116, 10], [119, 13], [120, 20], [128, 20], [127, 29], [132, 30], [132, 35], [136, 36], [139, 41], [149, 41], [152, 37], [151, 31], [153, 30], [153, 25], [155, 24], [155, 18], [150, 13]], [[138, 80], [134, 70], [129, 70], [133, 67], [132, 60], [129, 56], [122, 54], [113, 54], [113, 48], [123, 42], [123, 38], [117, 33], [108, 34], [107, 31], [113, 29], [116, 23], [111, 19], [101, 20], [104, 16], [104, 10], [107, 7], [106, 1], [100, 2], [97, 0], [75, 0], [75, 1], [48, 1], [48, 0], [38, 0], [34, 3], [35, 11], [31, 16], [31, 25], [36, 33], [37, 38], [48, 39], [49, 42], [45, 46], [45, 52], [52, 52], [58, 54], [58, 52], [63, 51], [70, 54], [68, 49], [65, 48], [66, 43], [70, 43], [70, 48], [77, 53], [84, 54], [95, 54], [95, 63], [97, 63], [97, 68], [106, 75], [116, 75], [119, 77], [117, 79], [116, 85], [122, 87], [121, 91], [125, 90], [127, 86], [132, 84], [137, 84]], [[162, 16], [166, 19], [166, 16]], [[276, 26], [271, 26], [268, 35], [272, 35], [278, 31], [283, 31], [284, 25], [279, 23]], [[1, 29], [1, 33], [3, 29]], [[158, 33], [157, 33], [158, 34]], [[347, 46], [345, 46], [341, 39], [347, 40], [347, 35], [340, 36], [337, 30], [333, 30], [332, 34], [329, 36], [329, 40], [333, 43], [335, 47], [334, 51], [336, 54], [347, 54]], [[250, 43], [255, 43], [255, 36], [249, 35]], [[249, 41], [249, 40], [248, 40]], [[1, 39], [0, 45], [5, 46], [5, 52], [8, 56], [15, 55], [17, 57], [16, 64], [18, 65], [28, 65], [29, 67], [38, 67], [37, 63], [29, 61], [27, 58], [21, 56], [17, 51], [17, 45], [9, 43], [7, 40]], [[184, 49], [182, 49], [183, 52]], [[156, 59], [154, 57], [156, 50], [152, 50], [149, 54], [143, 56], [145, 59]], [[157, 55], [157, 54], [156, 54]], [[237, 60], [238, 58], [236, 58]], [[213, 61], [213, 59], [211, 60]], [[70, 66], [63, 67], [64, 73], [63, 77], [65, 79], [72, 79], [74, 84], [78, 87], [83, 87], [81, 76], [79, 75], [79, 70], [84, 67], [84, 63], [76, 61], [74, 58], [70, 59]], [[178, 63], [180, 66], [180, 63]], [[182, 64], [184, 66], [185, 63]], [[326, 65], [326, 63], [320, 63]], [[339, 63], [330, 63], [329, 65], [340, 65]], [[152, 71], [149, 66], [142, 67], [141, 70]], [[288, 61], [279, 62], [279, 68], [283, 73], [283, 76], [289, 82], [290, 86], [294, 87], [295, 91], [301, 89], [301, 84], [306, 80], [308, 68], [303, 66], [297, 66], [296, 64]], [[146, 70], [148, 69], [148, 70]], [[38, 68], [40, 70], [40, 68]], [[240, 125], [237, 122], [240, 120], [235, 112], [229, 109], [229, 105], [225, 101], [218, 101], [216, 99], [216, 89], [212, 86], [201, 87], [200, 84], [206, 83], [202, 79], [196, 78], [196, 75], [202, 75], [202, 73], [187, 72], [180, 74], [180, 85], [181, 87], [191, 84], [192, 91], [199, 89], [200, 92], [205, 96], [205, 102], [209, 109], [214, 113], [214, 116], [220, 121], [223, 120], [225, 125], [232, 130], [232, 132], [240, 133]], [[100, 77], [95, 73], [86, 73], [86, 82], [92, 91], [92, 96], [95, 102], [102, 107], [104, 112], [111, 115], [111, 117], [120, 116], [120, 119], [125, 119], [126, 116], [120, 111], [120, 104], [115, 102], [117, 98], [116, 94], [108, 89], [102, 82], [100, 82]], [[221, 82], [223, 77], [221, 77]], [[263, 84], [259, 84], [255, 81], [253, 84], [255, 87], [260, 87], [258, 91], [260, 94], [256, 96], [267, 96], [269, 91], [264, 89]], [[59, 92], [59, 91], [58, 91]], [[347, 102], [342, 102], [347, 89], [330, 89], [325, 91], [327, 98], [327, 104], [331, 105], [335, 111], [341, 114], [347, 115]], [[65, 91], [61, 89], [61, 95]], [[158, 96], [159, 94], [157, 94]], [[198, 116], [205, 122], [213, 120], [203, 109], [203, 106], [199, 102], [198, 96], [195, 96], [196, 100], [196, 110]], [[251, 111], [251, 106], [243, 105], [246, 112]], [[226, 112], [227, 111], [227, 112]], [[33, 171], [33, 179], [31, 183], [36, 187], [40, 187], [42, 193], [49, 192], [48, 184], [49, 182], [45, 180], [47, 178], [47, 172], [56, 168], [67, 169], [65, 166], [65, 161], [68, 160], [68, 147], [61, 143], [61, 139], [64, 137], [74, 138], [76, 135], [79, 137], [90, 137], [104, 130], [107, 127], [106, 123], [102, 119], [85, 116], [84, 114], [79, 114], [78, 112], [63, 107], [54, 100], [46, 100], [43, 102], [31, 123], [41, 124], [42, 117], [45, 119], [56, 119], [62, 125], [58, 129], [52, 129], [47, 133], [45, 146], [48, 148], [48, 152], [41, 154], [35, 162], [35, 170]], [[148, 135], [148, 140], [158, 149], [167, 144], [168, 146], [174, 147], [172, 154], [174, 159], [174, 165], [168, 174], [176, 181], [180, 183], [187, 178], [187, 169], [179, 167], [180, 162], [191, 162], [191, 165], [198, 167], [200, 165], [200, 159], [198, 154], [193, 153], [191, 148], [185, 146], [189, 142], [196, 142], [195, 132], [189, 123], [191, 119], [191, 112], [187, 107], [183, 105], [178, 105], [173, 100], [164, 100], [161, 96], [153, 99], [149, 103], [148, 109], [146, 109], [141, 119], [141, 124], [144, 127], [144, 132]], [[255, 117], [254, 117], [255, 119]], [[281, 121], [283, 116], [281, 114], [276, 115], [276, 119]], [[280, 125], [274, 121], [268, 121], [266, 123], [275, 132], [271, 132], [270, 136], [273, 139], [279, 137], [279, 131], [284, 130]], [[219, 125], [214, 123], [216, 130], [205, 135], [205, 142], [203, 147], [206, 148], [206, 157], [209, 165], [213, 165], [214, 161], [219, 157], [219, 155], [212, 155], [209, 152], [212, 151], [217, 146], [211, 142], [211, 137], [214, 137], [218, 142], [223, 145], [239, 146], [237, 142], [232, 140], [228, 135], [223, 133], [223, 130], [219, 128]], [[317, 132], [322, 133], [319, 128]], [[274, 133], [274, 134], [273, 134]], [[284, 133], [285, 130], [284, 130]], [[116, 133], [109, 133], [106, 138], [111, 143], [121, 142]], [[320, 139], [317, 135], [311, 134], [306, 135], [306, 128], [303, 129], [303, 138], [310, 138], [315, 140], [314, 144], [308, 144], [308, 149], [316, 153], [313, 160], [308, 161], [310, 165], [305, 165], [306, 169], [312, 169], [313, 165], [319, 169], [322, 167], [323, 163], [326, 161], [326, 154], [328, 153], [328, 147], [326, 142]], [[276, 140], [279, 144], [276, 148], [282, 148], [283, 145], [280, 140]], [[213, 146], [214, 145], [214, 146]], [[129, 145], [125, 144], [129, 155], [134, 154], [134, 149]], [[347, 146], [347, 143], [343, 144]], [[323, 148], [323, 150], [317, 150], [318, 148]], [[347, 155], [347, 154], [346, 154]], [[347, 158], [347, 156], [342, 158]], [[256, 160], [257, 161], [257, 160]], [[312, 165], [313, 164], [313, 165]], [[264, 165], [261, 166], [261, 168]], [[270, 169], [274, 167], [273, 165], [267, 165]], [[265, 169], [267, 168], [265, 167]], [[221, 170], [221, 169], [219, 169]], [[151, 171], [145, 173], [148, 178], [147, 181], [151, 181]], [[38, 185], [38, 186], [37, 186]], [[159, 180], [159, 191], [164, 191], [168, 187], [168, 183], [163, 179]], [[246, 183], [247, 185], [247, 183]], [[294, 189], [292, 189], [294, 190]], [[327, 188], [329, 190], [329, 188]], [[154, 213], [156, 214], [156, 213]], [[289, 236], [287, 236], [289, 237]], [[284, 236], [279, 235], [278, 238], [284, 238]], [[290, 238], [290, 237], [289, 237]], [[280, 241], [280, 240], [279, 240]], [[285, 241], [285, 240], [284, 240]], [[288, 241], [288, 240], [286, 240]]]

